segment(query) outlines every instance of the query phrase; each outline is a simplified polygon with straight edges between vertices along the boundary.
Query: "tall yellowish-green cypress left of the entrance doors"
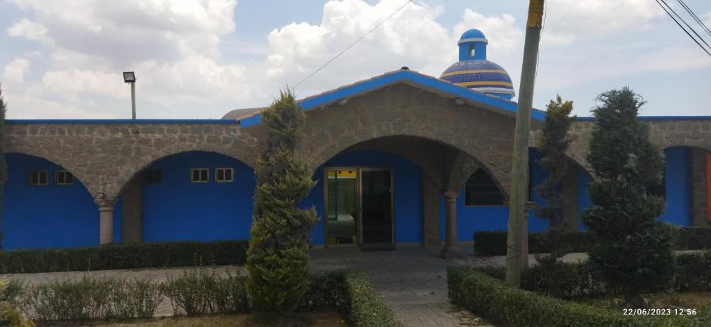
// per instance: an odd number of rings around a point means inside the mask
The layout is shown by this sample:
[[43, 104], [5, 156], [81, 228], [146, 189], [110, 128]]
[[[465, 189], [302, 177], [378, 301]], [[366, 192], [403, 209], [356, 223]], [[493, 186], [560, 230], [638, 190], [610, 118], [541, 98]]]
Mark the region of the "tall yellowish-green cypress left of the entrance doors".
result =
[[247, 291], [260, 311], [294, 311], [309, 287], [309, 232], [316, 210], [297, 205], [314, 187], [296, 153], [305, 115], [291, 90], [262, 112], [267, 142], [257, 162]]

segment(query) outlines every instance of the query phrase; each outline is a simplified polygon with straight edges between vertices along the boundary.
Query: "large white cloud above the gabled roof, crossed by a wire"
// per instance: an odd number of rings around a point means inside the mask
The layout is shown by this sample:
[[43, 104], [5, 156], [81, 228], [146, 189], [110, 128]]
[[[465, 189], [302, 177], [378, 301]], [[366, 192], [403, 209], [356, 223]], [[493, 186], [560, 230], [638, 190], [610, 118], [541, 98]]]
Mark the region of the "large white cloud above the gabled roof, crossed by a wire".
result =
[[[370, 5], [328, 1], [321, 23], [292, 23], [269, 33], [266, 71], [277, 84], [301, 81], [402, 6], [399, 0]], [[299, 87], [299, 95], [328, 90], [408, 66], [439, 76], [456, 61], [456, 39], [435, 19], [442, 8], [410, 3]]]

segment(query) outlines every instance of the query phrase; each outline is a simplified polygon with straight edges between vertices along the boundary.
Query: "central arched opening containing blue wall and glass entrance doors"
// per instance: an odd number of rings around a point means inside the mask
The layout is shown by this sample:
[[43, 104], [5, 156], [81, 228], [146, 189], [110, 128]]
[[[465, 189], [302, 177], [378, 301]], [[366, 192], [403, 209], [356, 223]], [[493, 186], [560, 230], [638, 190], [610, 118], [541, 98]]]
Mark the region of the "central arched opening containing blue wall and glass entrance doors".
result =
[[319, 166], [301, 202], [314, 205], [314, 245], [387, 246], [422, 242], [422, 169], [390, 151], [343, 151]]

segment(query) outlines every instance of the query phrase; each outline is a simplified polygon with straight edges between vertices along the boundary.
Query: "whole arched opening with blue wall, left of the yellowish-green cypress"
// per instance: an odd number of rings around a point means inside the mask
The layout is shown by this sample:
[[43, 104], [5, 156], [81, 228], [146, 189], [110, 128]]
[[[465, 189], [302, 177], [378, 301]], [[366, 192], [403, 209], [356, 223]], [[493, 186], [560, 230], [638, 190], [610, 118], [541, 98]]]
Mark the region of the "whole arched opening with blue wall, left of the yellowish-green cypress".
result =
[[254, 190], [252, 168], [230, 156], [207, 151], [165, 156], [123, 188], [122, 241], [247, 240]]

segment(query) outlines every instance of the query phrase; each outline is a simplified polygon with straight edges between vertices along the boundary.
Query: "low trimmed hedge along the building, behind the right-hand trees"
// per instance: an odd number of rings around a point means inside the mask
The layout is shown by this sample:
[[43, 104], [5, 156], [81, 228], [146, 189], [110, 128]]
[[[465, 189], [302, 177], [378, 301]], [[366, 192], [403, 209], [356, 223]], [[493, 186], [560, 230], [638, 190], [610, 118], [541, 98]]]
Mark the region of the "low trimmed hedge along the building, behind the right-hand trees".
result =
[[[561, 241], [567, 244], [569, 252], [587, 252], [596, 242], [589, 231], [569, 231], [561, 233]], [[545, 242], [545, 233], [528, 235], [528, 252], [548, 253], [550, 248]], [[678, 227], [675, 250], [711, 249], [711, 227]], [[476, 255], [506, 255], [506, 231], [474, 232], [474, 253]]]

